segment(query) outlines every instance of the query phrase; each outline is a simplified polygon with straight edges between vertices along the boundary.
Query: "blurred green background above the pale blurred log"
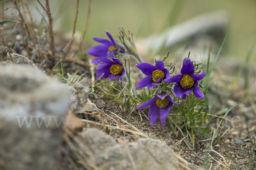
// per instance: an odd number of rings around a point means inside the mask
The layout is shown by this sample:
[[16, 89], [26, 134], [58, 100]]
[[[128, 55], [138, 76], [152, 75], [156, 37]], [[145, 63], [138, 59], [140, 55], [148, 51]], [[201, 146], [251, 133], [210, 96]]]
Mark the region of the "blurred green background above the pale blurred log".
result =
[[[56, 0], [53, 6], [62, 13], [56, 27], [62, 31], [72, 31], [76, 0]], [[87, 8], [88, 1], [80, 0], [76, 31], [81, 34], [86, 23]], [[85, 40], [95, 45], [93, 36], [107, 38], [105, 30], [117, 35], [120, 25], [131, 30], [135, 36], [147, 37], [168, 26], [216, 10], [225, 11], [230, 22], [226, 55], [244, 58], [256, 39], [256, 0], [92, 0]], [[58, 15], [53, 14], [53, 17]]]

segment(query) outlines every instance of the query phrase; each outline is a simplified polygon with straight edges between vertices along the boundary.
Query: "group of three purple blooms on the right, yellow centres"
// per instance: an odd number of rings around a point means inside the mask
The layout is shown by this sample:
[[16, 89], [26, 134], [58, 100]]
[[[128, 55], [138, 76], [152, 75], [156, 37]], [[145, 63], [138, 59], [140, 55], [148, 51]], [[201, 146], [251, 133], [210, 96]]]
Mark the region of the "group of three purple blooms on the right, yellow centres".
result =
[[[204, 98], [204, 94], [198, 88], [198, 80], [203, 79], [206, 72], [194, 74], [195, 68], [189, 58], [183, 62], [180, 74], [174, 77], [169, 77], [169, 71], [164, 67], [162, 60], [157, 61], [156, 66], [148, 63], [140, 63], [137, 64], [137, 67], [147, 76], [137, 83], [137, 88], [148, 87], [148, 89], [151, 89], [161, 85], [164, 87], [163, 84], [165, 83], [175, 83], [173, 92], [176, 96], [184, 99], [193, 91], [196, 97]], [[158, 117], [160, 117], [160, 122], [164, 125], [166, 116], [173, 104], [179, 105], [173, 102], [165, 91], [162, 91], [156, 94], [153, 99], [144, 102], [137, 109], [143, 109], [149, 106], [148, 119], [150, 125], [155, 125]]]

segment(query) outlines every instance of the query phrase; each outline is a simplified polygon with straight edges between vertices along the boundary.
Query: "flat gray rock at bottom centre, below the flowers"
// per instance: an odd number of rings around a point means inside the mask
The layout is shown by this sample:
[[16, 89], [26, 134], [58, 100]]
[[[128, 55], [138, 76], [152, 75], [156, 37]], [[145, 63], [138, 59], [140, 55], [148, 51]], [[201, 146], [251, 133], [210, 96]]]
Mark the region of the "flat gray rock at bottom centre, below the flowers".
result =
[[[139, 139], [118, 144], [107, 133], [96, 128], [80, 132], [80, 142], [74, 142], [84, 164], [104, 170], [177, 170], [178, 162], [165, 142]], [[81, 157], [71, 155], [77, 161]]]

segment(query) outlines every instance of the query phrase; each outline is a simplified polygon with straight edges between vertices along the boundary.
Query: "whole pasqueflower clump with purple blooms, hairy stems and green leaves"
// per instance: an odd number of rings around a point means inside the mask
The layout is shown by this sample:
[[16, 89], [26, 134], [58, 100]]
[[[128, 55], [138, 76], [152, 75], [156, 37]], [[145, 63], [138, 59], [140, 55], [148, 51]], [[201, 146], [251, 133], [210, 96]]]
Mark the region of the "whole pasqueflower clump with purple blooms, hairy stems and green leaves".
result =
[[[212, 115], [205, 111], [206, 104], [201, 91], [204, 87], [200, 84], [200, 80], [207, 74], [207, 72], [201, 73], [202, 63], [191, 61], [189, 53], [183, 60], [180, 74], [174, 75], [175, 66], [165, 64], [169, 51], [163, 59], [155, 60], [154, 65], [151, 65], [143, 62], [130, 31], [126, 34], [124, 28], [119, 28], [117, 40], [114, 40], [108, 31], [106, 33], [109, 40], [93, 37], [93, 40], [101, 44], [88, 51], [88, 54], [97, 57], [92, 61], [93, 64], [98, 65], [97, 78], [109, 79], [104, 81], [104, 84], [102, 82], [97, 84], [101, 85], [99, 89], [106, 94], [104, 96], [116, 101], [120, 101], [120, 97], [123, 98], [124, 111], [131, 106], [131, 102], [137, 109], [149, 106], [150, 125], [155, 125], [158, 118], [161, 124], [165, 125], [167, 118], [175, 133], [176, 127], [184, 126], [186, 132], [181, 132], [190, 136], [193, 144], [195, 135], [209, 137], [210, 132], [207, 131], [209, 125], [203, 125]], [[136, 66], [144, 74], [144, 78], [136, 85], [130, 72], [131, 57], [137, 60]], [[119, 83], [115, 82], [111, 85], [109, 81], [113, 80], [119, 80]], [[140, 89], [139, 94], [135, 88]]]

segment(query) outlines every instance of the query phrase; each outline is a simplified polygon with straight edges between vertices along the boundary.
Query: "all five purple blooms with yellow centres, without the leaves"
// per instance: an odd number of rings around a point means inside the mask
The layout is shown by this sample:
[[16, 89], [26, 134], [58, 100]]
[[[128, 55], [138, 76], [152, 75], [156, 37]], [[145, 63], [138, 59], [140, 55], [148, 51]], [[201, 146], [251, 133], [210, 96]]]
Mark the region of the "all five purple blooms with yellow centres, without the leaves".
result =
[[[106, 31], [106, 33], [110, 40], [93, 37], [93, 40], [101, 44], [91, 48], [88, 51], [88, 54], [97, 57], [92, 61], [93, 64], [99, 64], [99, 66], [96, 68], [96, 70], [98, 70], [96, 73], [97, 78], [109, 78], [110, 80], [118, 78], [119, 82], [122, 84], [123, 76], [125, 74], [124, 65], [126, 59], [122, 59], [119, 53], [124, 53], [125, 49], [113, 39], [108, 31]], [[122, 32], [122, 35], [124, 34], [125, 33]], [[122, 36], [122, 38], [124, 37], [125, 36]], [[124, 47], [127, 47], [125, 40], [121, 42], [124, 43]], [[126, 51], [129, 52], [127, 48]], [[133, 53], [134, 52], [130, 54], [133, 55]], [[137, 64], [137, 68], [139, 68], [143, 74], [146, 75], [146, 77], [140, 80], [135, 87], [148, 87], [148, 89], [157, 88], [156, 94], [154, 94], [152, 99], [149, 99], [137, 107], [137, 109], [143, 109], [149, 106], [148, 118], [150, 125], [155, 125], [159, 117], [161, 124], [164, 125], [166, 122], [166, 116], [169, 114], [173, 104], [179, 105], [172, 100], [167, 91], [173, 91], [175, 96], [181, 97], [182, 99], [189, 96], [190, 92], [193, 92], [198, 98], [204, 98], [204, 94], [198, 88], [198, 81], [204, 78], [206, 72], [195, 74], [193, 62], [191, 62], [189, 58], [186, 58], [183, 62], [180, 74], [170, 77], [170, 74], [172, 73], [170, 73], [164, 65], [164, 60], [167, 57], [168, 55], [164, 59], [157, 61], [155, 65], [145, 62]], [[130, 75], [130, 73], [128, 75]], [[130, 78], [131, 77], [128, 77], [128, 79]]]

